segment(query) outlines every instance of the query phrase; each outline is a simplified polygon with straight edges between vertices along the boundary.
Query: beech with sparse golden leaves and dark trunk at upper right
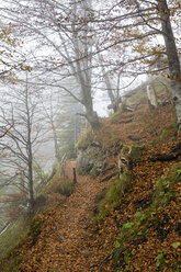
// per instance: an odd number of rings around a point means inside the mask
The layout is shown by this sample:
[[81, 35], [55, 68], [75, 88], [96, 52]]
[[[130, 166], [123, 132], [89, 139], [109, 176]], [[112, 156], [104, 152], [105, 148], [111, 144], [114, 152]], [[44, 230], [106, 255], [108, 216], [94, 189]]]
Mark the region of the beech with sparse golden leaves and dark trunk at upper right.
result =
[[[168, 77], [180, 126], [181, 70], [177, 39], [173, 35], [179, 8], [180, 1], [171, 0], [114, 1], [106, 12], [102, 11], [102, 18], [94, 21], [100, 25], [100, 30], [103, 25], [105, 33], [102, 37], [104, 46], [101, 44], [99, 50], [115, 48], [126, 55], [126, 61], [121, 59], [106, 63], [112, 70], [129, 75], [152, 75], [162, 71], [166, 76], [167, 69], [169, 70]], [[159, 42], [161, 36], [165, 45]], [[123, 48], [125, 46], [127, 50]]]

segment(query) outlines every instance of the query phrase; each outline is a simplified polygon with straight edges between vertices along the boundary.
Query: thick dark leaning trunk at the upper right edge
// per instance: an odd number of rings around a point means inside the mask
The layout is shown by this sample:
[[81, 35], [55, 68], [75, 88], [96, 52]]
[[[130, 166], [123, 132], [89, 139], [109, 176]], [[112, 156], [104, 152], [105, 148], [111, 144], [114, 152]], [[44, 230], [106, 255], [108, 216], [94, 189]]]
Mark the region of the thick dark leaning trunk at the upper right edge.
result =
[[170, 10], [167, 0], [158, 1], [158, 10], [161, 18], [161, 26], [163, 32], [166, 52], [169, 64], [169, 72], [171, 80], [171, 92], [176, 105], [179, 128], [181, 126], [181, 70], [180, 61], [174, 42], [174, 36], [170, 22]]

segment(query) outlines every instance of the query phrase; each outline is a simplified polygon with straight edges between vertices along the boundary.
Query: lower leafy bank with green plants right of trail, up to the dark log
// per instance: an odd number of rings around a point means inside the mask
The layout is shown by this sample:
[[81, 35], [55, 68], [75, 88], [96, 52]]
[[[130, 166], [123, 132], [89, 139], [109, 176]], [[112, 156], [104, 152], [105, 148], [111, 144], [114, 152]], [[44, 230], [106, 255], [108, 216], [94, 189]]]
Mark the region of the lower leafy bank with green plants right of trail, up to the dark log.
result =
[[92, 229], [97, 229], [92, 271], [180, 271], [180, 159], [150, 160], [152, 154], [169, 154], [176, 145], [146, 147], [133, 167], [131, 184], [123, 177], [110, 182]]

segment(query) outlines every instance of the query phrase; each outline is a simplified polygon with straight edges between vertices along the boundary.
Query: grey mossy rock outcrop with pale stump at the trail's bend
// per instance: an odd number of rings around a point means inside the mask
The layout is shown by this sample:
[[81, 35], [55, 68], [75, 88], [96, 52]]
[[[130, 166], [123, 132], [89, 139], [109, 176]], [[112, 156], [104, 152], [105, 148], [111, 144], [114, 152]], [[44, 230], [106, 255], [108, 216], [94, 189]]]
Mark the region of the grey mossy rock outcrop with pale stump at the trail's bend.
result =
[[[134, 161], [140, 157], [142, 150], [142, 146], [123, 145], [117, 141], [103, 147], [99, 141], [92, 140], [87, 146], [80, 145], [78, 147], [77, 170], [79, 174], [89, 174], [92, 178], [102, 174], [102, 182], [110, 180], [117, 173], [121, 179], [123, 172], [132, 169]], [[108, 163], [110, 157], [114, 158], [114, 165]]]

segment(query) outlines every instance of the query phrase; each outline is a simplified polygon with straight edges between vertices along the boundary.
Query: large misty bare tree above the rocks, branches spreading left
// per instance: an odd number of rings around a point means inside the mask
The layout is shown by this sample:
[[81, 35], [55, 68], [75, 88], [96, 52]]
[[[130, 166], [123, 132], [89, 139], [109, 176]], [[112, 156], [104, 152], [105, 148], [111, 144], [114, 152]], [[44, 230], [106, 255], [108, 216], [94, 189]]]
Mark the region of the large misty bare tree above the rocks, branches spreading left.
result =
[[[92, 128], [97, 129], [100, 123], [92, 103], [91, 23], [87, 20], [92, 1], [9, 2], [13, 8], [5, 9], [4, 18], [11, 20], [12, 24], [19, 24], [24, 34], [36, 37], [38, 47], [42, 45], [42, 50], [47, 49], [48, 54], [50, 53], [50, 56], [45, 53], [38, 60], [34, 59], [36, 68], [39, 68], [44, 76], [52, 72], [52, 87], [59, 87], [60, 91], [68, 92], [81, 103], [84, 106], [84, 117]], [[78, 95], [67, 86], [65, 88], [65, 78], [75, 78]], [[48, 84], [52, 80], [49, 79]]]

